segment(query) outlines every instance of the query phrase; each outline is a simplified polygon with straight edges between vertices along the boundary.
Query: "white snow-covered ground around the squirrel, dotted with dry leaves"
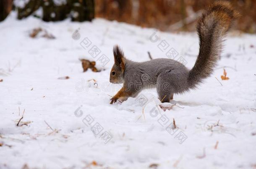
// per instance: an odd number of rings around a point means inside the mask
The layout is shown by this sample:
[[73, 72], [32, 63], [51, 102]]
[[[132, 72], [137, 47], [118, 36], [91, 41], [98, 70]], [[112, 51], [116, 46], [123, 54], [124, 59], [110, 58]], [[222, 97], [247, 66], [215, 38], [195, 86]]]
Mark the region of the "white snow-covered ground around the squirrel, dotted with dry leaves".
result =
[[[38, 27], [56, 38], [30, 38]], [[198, 90], [175, 95], [176, 106], [163, 111], [155, 90], [109, 104], [121, 87], [109, 82], [112, 47], [119, 44], [133, 61], [149, 60], [147, 51], [167, 58], [173, 48], [175, 59], [192, 68], [196, 33], [102, 19], [18, 21], [14, 13], [0, 23], [0, 32], [1, 169], [256, 167], [256, 35], [230, 33], [212, 77]], [[169, 46], [163, 49], [163, 43]], [[90, 55], [94, 45], [99, 55]], [[83, 73], [79, 58], [97, 61], [102, 71]], [[220, 78], [224, 66], [226, 81]]]

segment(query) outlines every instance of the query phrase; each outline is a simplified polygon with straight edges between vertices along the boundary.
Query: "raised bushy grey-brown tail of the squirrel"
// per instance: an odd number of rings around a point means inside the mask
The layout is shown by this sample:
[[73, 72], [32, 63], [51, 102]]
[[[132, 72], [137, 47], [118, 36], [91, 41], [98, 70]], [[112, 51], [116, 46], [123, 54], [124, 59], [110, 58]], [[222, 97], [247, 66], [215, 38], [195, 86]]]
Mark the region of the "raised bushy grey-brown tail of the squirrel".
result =
[[196, 29], [200, 39], [199, 55], [189, 71], [189, 88], [196, 88], [204, 78], [209, 77], [222, 51], [223, 38], [239, 14], [228, 2], [217, 2], [204, 11]]

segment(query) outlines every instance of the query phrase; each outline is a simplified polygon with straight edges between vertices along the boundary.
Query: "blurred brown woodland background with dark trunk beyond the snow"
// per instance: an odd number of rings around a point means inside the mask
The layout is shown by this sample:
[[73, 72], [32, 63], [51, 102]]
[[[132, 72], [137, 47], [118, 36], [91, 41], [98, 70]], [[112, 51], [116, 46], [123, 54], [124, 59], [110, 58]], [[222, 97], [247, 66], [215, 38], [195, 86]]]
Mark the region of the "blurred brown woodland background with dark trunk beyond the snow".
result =
[[[29, 15], [48, 21], [71, 18], [91, 21], [105, 18], [119, 22], [157, 28], [162, 31], [194, 31], [201, 10], [215, 0], [0, 0], [0, 21], [11, 10], [17, 18]], [[236, 30], [256, 33], [256, 0], [229, 0], [240, 12]]]

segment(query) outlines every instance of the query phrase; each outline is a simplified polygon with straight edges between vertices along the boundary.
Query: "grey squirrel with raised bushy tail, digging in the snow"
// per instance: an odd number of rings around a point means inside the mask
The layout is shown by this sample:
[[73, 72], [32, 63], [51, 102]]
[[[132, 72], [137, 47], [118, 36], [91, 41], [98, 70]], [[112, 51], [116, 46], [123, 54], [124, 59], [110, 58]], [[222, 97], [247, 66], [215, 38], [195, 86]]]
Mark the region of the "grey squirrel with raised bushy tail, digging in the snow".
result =
[[232, 5], [223, 1], [214, 3], [202, 13], [196, 24], [200, 40], [199, 55], [191, 70], [167, 58], [141, 63], [130, 61], [125, 58], [120, 47], [115, 45], [115, 63], [110, 72], [110, 83], [123, 83], [123, 87], [110, 99], [110, 104], [119, 99], [125, 101], [128, 97], [136, 97], [144, 88], [157, 88], [161, 102], [170, 102], [173, 94], [196, 89], [213, 73], [220, 58], [223, 38], [238, 16], [239, 13]]

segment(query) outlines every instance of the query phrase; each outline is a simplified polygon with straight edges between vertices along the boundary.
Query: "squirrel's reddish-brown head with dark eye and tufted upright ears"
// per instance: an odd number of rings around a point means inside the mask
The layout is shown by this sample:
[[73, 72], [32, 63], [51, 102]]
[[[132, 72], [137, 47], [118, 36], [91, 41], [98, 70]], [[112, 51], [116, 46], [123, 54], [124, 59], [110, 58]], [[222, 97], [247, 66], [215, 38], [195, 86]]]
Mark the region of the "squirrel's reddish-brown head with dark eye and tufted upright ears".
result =
[[118, 45], [113, 48], [115, 63], [110, 71], [110, 83], [123, 83], [123, 73], [125, 70], [125, 58], [123, 51]]

